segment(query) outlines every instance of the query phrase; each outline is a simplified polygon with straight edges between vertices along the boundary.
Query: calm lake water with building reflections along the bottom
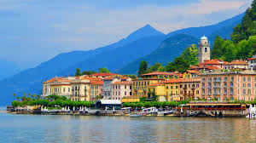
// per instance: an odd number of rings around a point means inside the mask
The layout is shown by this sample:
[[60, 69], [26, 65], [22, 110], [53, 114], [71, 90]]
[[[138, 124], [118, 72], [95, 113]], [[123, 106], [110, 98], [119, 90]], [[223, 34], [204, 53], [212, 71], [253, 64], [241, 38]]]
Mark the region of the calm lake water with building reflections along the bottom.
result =
[[256, 142], [256, 120], [0, 113], [0, 142]]

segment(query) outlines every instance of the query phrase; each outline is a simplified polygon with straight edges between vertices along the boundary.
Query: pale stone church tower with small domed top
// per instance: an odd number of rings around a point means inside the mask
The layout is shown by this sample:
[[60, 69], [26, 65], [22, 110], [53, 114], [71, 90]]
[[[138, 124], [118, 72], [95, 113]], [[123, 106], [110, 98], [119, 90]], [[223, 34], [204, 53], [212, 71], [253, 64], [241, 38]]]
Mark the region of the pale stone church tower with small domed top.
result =
[[202, 63], [205, 60], [210, 60], [210, 43], [208, 43], [208, 38], [201, 37], [201, 42], [198, 44], [198, 62]]

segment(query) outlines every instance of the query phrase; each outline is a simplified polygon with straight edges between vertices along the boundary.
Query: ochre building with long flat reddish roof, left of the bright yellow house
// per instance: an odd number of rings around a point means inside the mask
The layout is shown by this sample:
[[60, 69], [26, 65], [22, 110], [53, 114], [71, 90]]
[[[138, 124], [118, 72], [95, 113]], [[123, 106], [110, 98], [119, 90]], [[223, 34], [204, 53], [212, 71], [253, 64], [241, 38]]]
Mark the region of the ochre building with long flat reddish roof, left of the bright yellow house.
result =
[[160, 78], [138, 78], [132, 81], [132, 96], [140, 96], [140, 97], [147, 97], [148, 90], [147, 86], [153, 83], [159, 83], [160, 81], [164, 81], [165, 79]]

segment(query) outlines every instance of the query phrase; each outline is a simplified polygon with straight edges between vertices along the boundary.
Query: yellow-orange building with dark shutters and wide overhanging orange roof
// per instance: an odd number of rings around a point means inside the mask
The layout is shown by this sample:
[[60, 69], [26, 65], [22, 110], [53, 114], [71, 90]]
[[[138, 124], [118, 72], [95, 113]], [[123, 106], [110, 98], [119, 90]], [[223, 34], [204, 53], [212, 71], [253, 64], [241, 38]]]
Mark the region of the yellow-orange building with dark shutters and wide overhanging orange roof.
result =
[[170, 79], [164, 82], [166, 84], [166, 95], [168, 101], [180, 100], [179, 83], [182, 80], [183, 79]]

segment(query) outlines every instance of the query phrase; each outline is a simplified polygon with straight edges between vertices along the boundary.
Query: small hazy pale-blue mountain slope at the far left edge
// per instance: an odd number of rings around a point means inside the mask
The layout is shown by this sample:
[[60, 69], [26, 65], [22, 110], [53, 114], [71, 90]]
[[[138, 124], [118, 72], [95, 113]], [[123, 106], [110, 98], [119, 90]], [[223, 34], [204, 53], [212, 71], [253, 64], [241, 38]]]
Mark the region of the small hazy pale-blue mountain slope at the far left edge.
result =
[[16, 66], [14, 62], [0, 59], [1, 71], [0, 71], [0, 80], [6, 77], [11, 77], [15, 73], [20, 72], [20, 67]]

